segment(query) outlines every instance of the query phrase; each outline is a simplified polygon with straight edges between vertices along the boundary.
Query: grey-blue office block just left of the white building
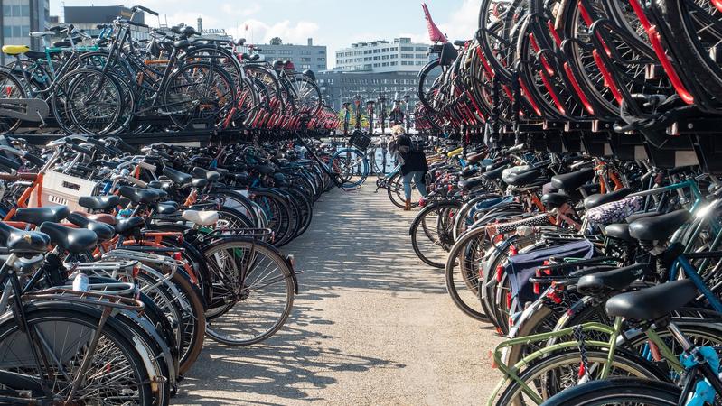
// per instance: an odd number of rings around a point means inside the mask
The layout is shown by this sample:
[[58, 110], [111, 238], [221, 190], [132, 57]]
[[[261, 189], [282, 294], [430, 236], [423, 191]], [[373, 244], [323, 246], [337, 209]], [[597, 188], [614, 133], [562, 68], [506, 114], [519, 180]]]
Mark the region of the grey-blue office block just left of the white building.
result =
[[265, 60], [290, 60], [294, 62], [295, 69], [300, 71], [311, 69], [319, 72], [328, 69], [326, 47], [314, 45], [313, 38], [309, 38], [305, 45], [285, 44], [280, 39], [275, 40], [270, 44], [258, 45], [261, 49], [259, 53]]

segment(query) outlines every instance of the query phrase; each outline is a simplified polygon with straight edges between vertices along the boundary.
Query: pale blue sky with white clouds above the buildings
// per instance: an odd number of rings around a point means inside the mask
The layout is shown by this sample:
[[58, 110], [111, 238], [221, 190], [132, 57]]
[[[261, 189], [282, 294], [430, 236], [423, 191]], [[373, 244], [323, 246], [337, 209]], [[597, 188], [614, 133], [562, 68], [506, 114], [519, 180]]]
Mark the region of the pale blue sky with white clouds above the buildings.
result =
[[[124, 0], [51, 0], [51, 14], [62, 17], [63, 5], [119, 5]], [[134, 1], [134, 0], [125, 0]], [[431, 16], [449, 40], [466, 40], [478, 27], [479, 0], [427, 0]], [[169, 25], [195, 26], [198, 17], [204, 28], [222, 28], [235, 38], [267, 43], [280, 37], [285, 43], [328, 46], [330, 67], [334, 51], [352, 42], [410, 37], [428, 42], [427, 24], [420, 0], [135, 0], [123, 5], [145, 5], [167, 18]], [[157, 25], [146, 14], [145, 23]], [[248, 25], [248, 31], [245, 27]]]

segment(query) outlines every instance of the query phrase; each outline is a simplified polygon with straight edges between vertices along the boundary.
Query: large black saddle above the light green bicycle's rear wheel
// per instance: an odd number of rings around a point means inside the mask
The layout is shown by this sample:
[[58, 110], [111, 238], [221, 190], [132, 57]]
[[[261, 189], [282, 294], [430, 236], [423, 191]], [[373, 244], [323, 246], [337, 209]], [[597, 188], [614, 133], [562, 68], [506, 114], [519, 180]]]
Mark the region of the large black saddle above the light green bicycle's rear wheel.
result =
[[621, 293], [606, 301], [606, 313], [633, 320], [656, 320], [680, 309], [697, 296], [689, 279], [670, 281], [641, 291]]

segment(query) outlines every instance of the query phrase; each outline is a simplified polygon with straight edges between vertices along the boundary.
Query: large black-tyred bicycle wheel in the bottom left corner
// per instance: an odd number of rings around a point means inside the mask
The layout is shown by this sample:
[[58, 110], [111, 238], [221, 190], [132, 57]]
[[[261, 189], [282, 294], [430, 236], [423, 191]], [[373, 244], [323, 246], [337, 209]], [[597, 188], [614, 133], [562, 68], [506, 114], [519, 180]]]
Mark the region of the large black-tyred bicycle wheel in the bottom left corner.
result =
[[[152, 404], [153, 394], [143, 359], [120, 322], [108, 318], [95, 352], [87, 352], [89, 341], [98, 329], [99, 314], [98, 309], [56, 302], [27, 306], [25, 321], [42, 341], [42, 346], [36, 349], [44, 353], [46, 363], [39, 370], [33, 359], [31, 340], [17, 320], [11, 318], [0, 324], [2, 369], [45, 383], [52, 390], [53, 401], [68, 399], [72, 383], [80, 380], [82, 384], [71, 402]], [[77, 375], [86, 357], [91, 357], [87, 371]]]

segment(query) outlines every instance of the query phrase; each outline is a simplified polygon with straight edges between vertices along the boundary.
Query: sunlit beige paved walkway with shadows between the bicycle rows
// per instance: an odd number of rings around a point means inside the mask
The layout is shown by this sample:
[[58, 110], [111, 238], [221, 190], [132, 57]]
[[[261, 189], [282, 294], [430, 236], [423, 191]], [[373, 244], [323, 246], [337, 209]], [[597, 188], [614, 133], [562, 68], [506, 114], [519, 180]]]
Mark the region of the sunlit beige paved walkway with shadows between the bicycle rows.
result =
[[207, 342], [174, 403], [486, 401], [500, 339], [455, 308], [443, 271], [417, 259], [415, 213], [373, 189], [333, 190], [316, 204], [310, 230], [284, 249], [303, 271], [286, 328], [249, 348]]

